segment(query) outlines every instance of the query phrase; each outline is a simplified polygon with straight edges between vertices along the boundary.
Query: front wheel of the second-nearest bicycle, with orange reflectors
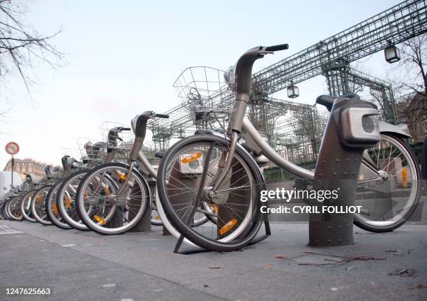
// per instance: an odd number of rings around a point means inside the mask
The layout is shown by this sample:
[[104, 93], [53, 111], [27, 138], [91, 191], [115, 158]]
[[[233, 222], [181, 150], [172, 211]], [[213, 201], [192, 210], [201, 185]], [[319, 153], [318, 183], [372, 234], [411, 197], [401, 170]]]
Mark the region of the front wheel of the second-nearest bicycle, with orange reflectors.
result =
[[[126, 186], [117, 195], [121, 185]], [[105, 163], [93, 168], [77, 189], [80, 219], [103, 235], [126, 233], [137, 225], [149, 207], [147, 181], [135, 169], [128, 175], [128, 166], [123, 163]]]

